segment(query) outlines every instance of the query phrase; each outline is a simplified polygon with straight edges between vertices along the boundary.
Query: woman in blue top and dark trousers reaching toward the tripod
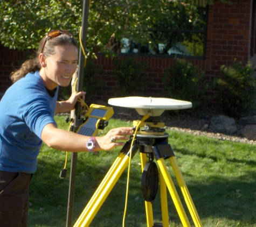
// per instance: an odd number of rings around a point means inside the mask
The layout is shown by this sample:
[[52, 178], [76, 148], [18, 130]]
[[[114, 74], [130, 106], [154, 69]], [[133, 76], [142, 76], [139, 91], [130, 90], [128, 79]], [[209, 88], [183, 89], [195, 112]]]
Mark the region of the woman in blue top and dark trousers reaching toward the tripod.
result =
[[72, 34], [54, 30], [40, 41], [36, 58], [11, 74], [15, 83], [0, 102], [1, 226], [27, 226], [29, 183], [42, 141], [62, 151], [100, 151], [124, 145], [115, 140], [128, 140], [133, 134], [132, 127], [112, 129], [93, 138], [58, 129], [54, 112], [74, 109], [78, 98], [85, 96], [79, 92], [57, 102], [59, 86], [68, 86], [77, 64]]

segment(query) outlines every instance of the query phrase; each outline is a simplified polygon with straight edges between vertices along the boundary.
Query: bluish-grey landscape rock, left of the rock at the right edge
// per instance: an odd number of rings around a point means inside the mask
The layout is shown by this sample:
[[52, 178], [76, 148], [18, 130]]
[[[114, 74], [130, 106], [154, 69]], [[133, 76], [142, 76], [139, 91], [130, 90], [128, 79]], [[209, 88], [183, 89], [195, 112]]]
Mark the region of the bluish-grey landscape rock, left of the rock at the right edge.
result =
[[220, 132], [232, 135], [237, 132], [236, 121], [233, 118], [217, 115], [211, 119], [210, 129], [213, 132]]

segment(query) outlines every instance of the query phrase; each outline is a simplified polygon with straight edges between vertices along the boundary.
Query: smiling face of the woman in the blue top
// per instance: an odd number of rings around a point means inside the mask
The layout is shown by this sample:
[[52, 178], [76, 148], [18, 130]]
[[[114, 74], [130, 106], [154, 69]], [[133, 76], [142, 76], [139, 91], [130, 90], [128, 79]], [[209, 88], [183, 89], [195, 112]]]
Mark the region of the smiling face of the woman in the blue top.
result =
[[78, 49], [74, 45], [55, 46], [55, 53], [41, 56], [43, 63], [40, 70], [45, 87], [53, 90], [58, 85], [66, 87], [77, 70]]

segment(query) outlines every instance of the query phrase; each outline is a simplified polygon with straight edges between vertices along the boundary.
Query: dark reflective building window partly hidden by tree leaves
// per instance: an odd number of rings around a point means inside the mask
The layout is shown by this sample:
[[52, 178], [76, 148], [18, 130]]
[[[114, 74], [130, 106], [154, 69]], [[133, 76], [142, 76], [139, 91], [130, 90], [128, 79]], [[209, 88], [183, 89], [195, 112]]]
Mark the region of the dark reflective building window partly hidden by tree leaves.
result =
[[170, 1], [164, 14], [148, 29], [146, 45], [129, 38], [121, 42], [121, 54], [205, 58], [207, 5], [202, 0]]

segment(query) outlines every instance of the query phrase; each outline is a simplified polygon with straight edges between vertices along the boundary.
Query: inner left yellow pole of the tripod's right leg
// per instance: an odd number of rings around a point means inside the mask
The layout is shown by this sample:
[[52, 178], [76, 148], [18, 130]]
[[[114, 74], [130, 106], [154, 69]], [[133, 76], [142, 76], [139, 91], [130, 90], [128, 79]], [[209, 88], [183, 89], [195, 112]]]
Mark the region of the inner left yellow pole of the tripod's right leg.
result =
[[183, 226], [191, 227], [191, 225], [189, 223], [189, 219], [186, 216], [185, 210], [183, 208], [182, 202], [179, 199], [174, 182], [172, 181], [171, 176], [168, 172], [167, 166], [165, 165], [164, 159], [163, 158], [158, 159], [157, 164], [160, 168], [161, 173], [163, 174], [164, 181], [167, 185], [167, 188], [169, 189], [170, 195], [172, 197], [172, 200], [174, 201], [175, 207], [177, 209], [179, 218], [181, 218], [181, 222], [182, 222]]

